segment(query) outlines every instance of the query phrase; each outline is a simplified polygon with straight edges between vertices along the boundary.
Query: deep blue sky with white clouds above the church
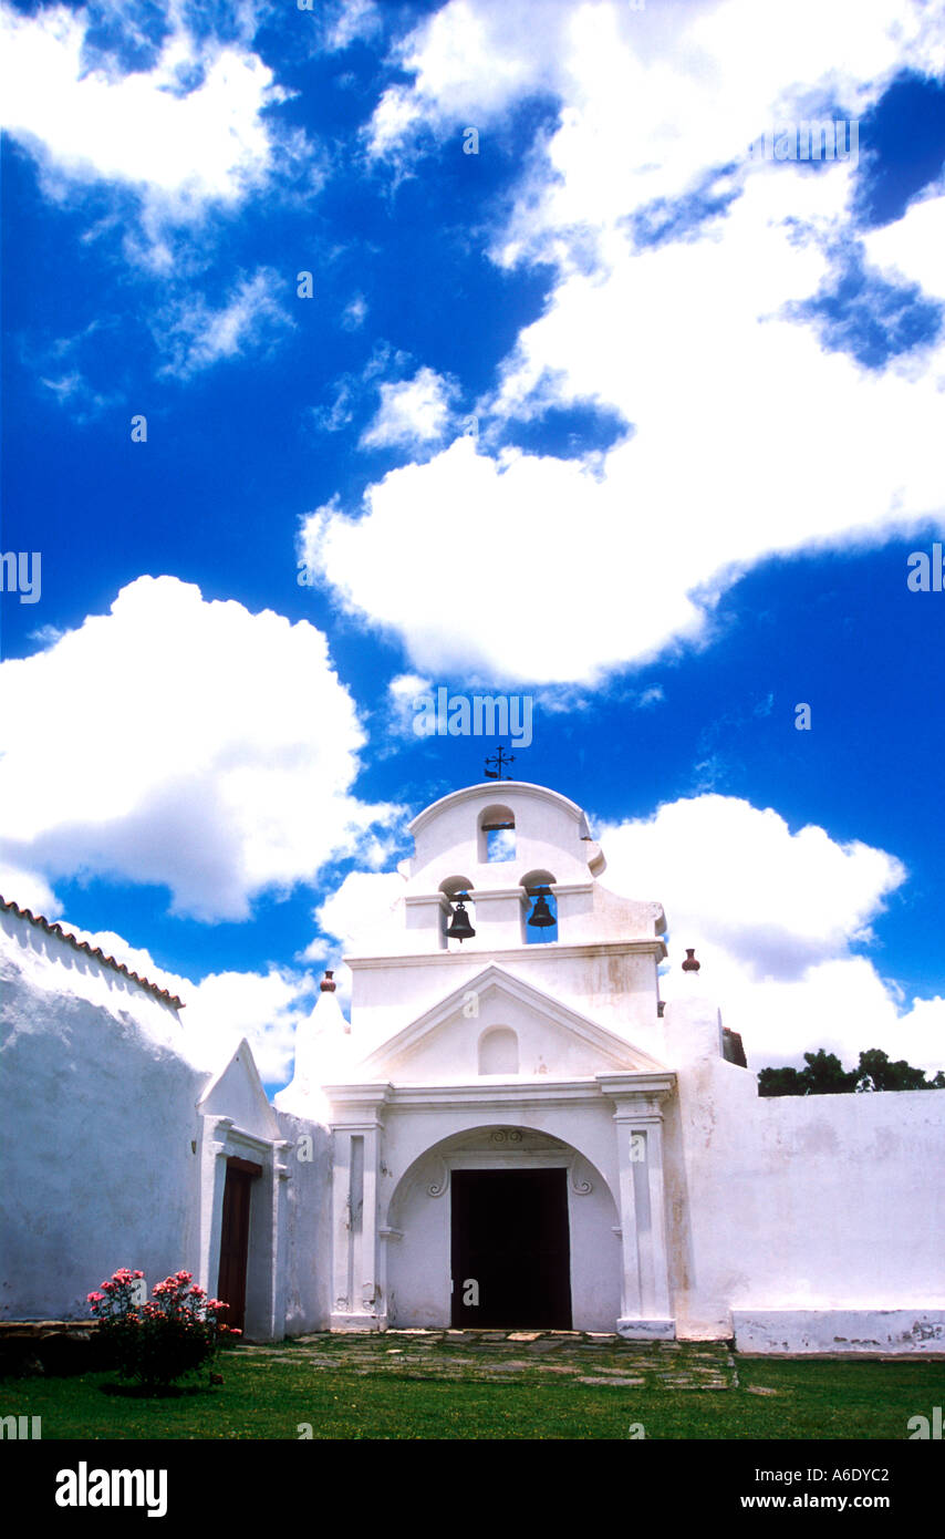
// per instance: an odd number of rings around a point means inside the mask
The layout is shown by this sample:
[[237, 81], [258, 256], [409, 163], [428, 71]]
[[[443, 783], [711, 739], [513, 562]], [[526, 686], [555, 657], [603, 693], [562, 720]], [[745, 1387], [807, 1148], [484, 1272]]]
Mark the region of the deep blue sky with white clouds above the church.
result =
[[666, 994], [694, 945], [753, 1067], [943, 1067], [940, 8], [3, 28], [3, 896], [283, 1083], [496, 746], [414, 702], [528, 696]]

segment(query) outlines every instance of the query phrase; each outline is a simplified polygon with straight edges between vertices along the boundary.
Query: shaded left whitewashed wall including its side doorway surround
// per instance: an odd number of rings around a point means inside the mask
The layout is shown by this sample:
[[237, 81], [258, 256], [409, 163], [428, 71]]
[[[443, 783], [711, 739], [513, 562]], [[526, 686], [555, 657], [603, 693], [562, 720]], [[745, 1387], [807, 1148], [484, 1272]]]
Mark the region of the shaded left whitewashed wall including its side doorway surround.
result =
[[183, 1043], [171, 1005], [0, 913], [2, 1319], [89, 1319], [119, 1267], [149, 1288], [185, 1268], [214, 1293], [234, 1153], [263, 1163], [248, 1333], [326, 1325], [328, 1130], [272, 1111], [245, 1043], [217, 1079]]

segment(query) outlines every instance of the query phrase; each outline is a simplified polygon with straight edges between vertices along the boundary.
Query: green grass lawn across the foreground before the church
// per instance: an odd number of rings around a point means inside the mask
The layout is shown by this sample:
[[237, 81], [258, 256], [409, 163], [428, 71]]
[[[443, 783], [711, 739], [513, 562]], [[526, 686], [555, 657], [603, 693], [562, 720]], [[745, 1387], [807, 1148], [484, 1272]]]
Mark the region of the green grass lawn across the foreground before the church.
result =
[[[893, 1437], [910, 1416], [945, 1404], [945, 1362], [737, 1359], [734, 1390], [596, 1387], [545, 1377], [443, 1382], [346, 1370], [312, 1371], [303, 1357], [228, 1353], [222, 1387], [179, 1399], [106, 1394], [114, 1374], [0, 1382], [0, 1414], [42, 1416], [60, 1437], [620, 1437], [642, 1422], [649, 1439]], [[759, 1388], [774, 1393], [753, 1393]]]

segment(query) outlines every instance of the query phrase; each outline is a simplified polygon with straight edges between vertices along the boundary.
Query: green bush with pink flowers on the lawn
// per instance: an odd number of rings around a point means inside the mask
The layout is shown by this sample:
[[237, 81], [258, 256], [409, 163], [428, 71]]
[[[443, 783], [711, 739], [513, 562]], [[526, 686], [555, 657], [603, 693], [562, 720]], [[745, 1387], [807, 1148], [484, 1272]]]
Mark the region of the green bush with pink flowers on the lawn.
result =
[[88, 1294], [88, 1302], [122, 1377], [154, 1390], [194, 1373], [240, 1331], [220, 1324], [226, 1304], [191, 1287], [189, 1271], [155, 1282], [152, 1304], [137, 1302], [143, 1276], [120, 1267], [100, 1293]]

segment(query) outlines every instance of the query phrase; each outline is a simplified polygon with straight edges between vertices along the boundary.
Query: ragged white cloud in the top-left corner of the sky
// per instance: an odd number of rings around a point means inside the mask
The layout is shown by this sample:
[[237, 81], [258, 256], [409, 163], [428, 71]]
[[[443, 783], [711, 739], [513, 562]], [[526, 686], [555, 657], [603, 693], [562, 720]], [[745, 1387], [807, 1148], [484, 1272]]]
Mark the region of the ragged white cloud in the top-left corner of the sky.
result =
[[162, 22], [155, 45], [122, 8], [51, 5], [26, 15], [3, 5], [0, 100], [46, 195], [74, 202], [77, 189], [103, 186], [122, 195], [114, 214], [126, 225], [126, 257], [169, 274], [180, 265], [175, 231], [279, 180], [308, 195], [325, 168], [305, 134], [269, 111], [291, 92], [249, 46], [252, 5], [208, 26], [171, 3], [148, 17], [151, 29]]

